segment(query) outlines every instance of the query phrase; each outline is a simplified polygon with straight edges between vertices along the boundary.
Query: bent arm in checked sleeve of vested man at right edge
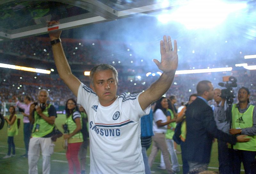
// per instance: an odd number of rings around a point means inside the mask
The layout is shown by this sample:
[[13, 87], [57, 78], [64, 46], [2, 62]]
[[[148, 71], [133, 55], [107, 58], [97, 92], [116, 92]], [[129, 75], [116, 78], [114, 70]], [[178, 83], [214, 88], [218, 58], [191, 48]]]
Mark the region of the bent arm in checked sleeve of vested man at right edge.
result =
[[254, 107], [252, 112], [252, 127], [242, 128], [242, 129], [230, 129], [230, 134], [242, 134], [242, 135], [256, 135], [256, 107]]

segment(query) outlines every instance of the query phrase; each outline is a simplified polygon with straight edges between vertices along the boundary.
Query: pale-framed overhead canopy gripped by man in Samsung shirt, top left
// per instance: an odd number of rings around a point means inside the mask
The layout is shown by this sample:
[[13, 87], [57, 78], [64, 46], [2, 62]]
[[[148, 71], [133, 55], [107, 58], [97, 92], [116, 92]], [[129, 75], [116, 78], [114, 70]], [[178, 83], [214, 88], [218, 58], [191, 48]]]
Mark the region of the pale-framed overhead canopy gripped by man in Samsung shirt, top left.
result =
[[[158, 0], [0, 0], [0, 41], [170, 9]], [[56, 28], [47, 21], [59, 20]]]

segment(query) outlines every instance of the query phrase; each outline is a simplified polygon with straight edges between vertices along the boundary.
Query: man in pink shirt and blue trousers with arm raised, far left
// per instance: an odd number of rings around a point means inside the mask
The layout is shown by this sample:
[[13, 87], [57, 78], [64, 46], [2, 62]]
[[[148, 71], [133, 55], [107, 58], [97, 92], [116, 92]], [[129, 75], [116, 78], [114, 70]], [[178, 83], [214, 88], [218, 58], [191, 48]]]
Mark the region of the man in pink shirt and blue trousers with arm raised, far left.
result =
[[29, 139], [31, 136], [31, 131], [33, 129], [33, 125], [29, 122], [29, 107], [32, 104], [31, 97], [25, 96], [24, 97], [24, 104], [22, 104], [16, 96], [13, 96], [13, 99], [16, 102], [16, 106], [19, 107], [19, 110], [21, 111], [21, 114], [23, 115], [23, 137], [24, 137], [24, 143], [25, 143], [25, 149], [26, 153], [21, 155], [22, 157], [28, 158], [28, 144]]

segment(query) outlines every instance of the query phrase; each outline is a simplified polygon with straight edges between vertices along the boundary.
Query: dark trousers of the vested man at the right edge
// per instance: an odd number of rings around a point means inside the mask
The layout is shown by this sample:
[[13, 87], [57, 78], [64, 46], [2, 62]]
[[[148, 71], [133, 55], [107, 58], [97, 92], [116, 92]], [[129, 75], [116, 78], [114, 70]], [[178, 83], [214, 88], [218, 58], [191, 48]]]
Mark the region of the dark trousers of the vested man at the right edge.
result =
[[233, 174], [240, 174], [241, 162], [244, 164], [245, 174], [252, 174], [251, 164], [255, 160], [256, 151], [230, 149], [230, 152]]

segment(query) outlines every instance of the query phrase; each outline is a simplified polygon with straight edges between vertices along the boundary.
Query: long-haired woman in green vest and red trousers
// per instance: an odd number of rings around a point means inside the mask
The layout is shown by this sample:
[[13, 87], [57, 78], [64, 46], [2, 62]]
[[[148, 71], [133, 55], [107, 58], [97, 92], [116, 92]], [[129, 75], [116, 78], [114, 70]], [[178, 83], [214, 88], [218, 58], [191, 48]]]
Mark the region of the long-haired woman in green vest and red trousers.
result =
[[[74, 99], [68, 99], [66, 102], [66, 121], [63, 125], [64, 139], [68, 140], [68, 147], [66, 157], [68, 160], [68, 174], [81, 173], [80, 162], [78, 159], [78, 152], [82, 145], [83, 135], [81, 132], [82, 120], [81, 114], [78, 111], [76, 101]], [[67, 132], [67, 133], [65, 133]]]

